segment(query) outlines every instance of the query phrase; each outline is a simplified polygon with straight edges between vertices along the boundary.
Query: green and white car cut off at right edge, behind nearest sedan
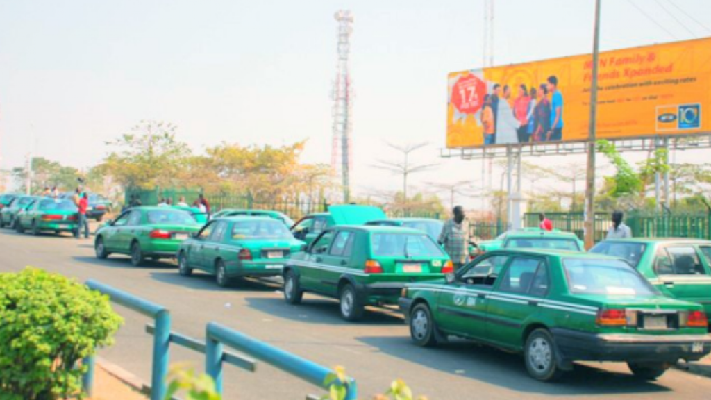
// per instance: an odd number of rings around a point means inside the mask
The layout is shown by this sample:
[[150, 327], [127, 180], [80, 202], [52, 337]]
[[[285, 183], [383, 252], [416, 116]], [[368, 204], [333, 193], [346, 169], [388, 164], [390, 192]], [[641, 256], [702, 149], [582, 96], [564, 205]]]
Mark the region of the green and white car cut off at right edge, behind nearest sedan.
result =
[[685, 238], [608, 239], [590, 253], [623, 258], [661, 293], [711, 312], [711, 241]]

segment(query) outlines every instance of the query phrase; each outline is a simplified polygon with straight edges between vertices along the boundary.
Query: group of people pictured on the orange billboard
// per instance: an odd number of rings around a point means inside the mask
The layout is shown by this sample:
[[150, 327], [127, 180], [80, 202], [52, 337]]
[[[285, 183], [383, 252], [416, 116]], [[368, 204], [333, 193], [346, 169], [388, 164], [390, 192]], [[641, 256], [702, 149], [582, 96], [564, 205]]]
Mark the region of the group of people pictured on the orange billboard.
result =
[[563, 95], [558, 78], [551, 75], [547, 83], [530, 90], [520, 85], [513, 100], [508, 85], [494, 84], [493, 93], [484, 96], [481, 125], [485, 145], [562, 140]]

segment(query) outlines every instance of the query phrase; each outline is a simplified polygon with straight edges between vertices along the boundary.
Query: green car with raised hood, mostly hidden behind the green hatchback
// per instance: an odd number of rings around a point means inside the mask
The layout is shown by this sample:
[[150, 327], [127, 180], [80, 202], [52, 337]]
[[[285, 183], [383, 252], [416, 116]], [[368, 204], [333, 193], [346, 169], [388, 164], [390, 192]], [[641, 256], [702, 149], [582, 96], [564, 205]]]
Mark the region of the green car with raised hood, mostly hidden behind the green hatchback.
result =
[[304, 216], [292, 226], [294, 237], [311, 243], [326, 228], [339, 225], [363, 225], [368, 221], [386, 219], [385, 212], [375, 206], [343, 204], [329, 206], [328, 212]]

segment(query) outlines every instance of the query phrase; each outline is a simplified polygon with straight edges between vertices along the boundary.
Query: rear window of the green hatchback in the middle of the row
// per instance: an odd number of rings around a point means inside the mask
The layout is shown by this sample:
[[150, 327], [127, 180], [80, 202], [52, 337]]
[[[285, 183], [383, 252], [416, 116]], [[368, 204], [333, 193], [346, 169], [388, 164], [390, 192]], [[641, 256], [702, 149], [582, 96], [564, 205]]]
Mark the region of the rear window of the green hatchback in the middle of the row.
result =
[[373, 233], [373, 256], [392, 258], [444, 257], [442, 248], [431, 237], [419, 233]]

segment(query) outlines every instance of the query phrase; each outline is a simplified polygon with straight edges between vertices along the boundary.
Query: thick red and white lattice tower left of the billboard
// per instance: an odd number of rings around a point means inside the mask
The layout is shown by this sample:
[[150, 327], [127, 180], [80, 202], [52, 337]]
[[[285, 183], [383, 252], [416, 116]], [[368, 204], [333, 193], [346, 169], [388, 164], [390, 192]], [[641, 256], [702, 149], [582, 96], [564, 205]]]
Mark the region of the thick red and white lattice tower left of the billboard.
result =
[[331, 169], [336, 177], [341, 177], [343, 202], [351, 197], [351, 129], [353, 120], [353, 87], [348, 54], [351, 52], [353, 33], [353, 13], [348, 10], [336, 12], [338, 21], [338, 69], [333, 83], [333, 147], [331, 147]]

